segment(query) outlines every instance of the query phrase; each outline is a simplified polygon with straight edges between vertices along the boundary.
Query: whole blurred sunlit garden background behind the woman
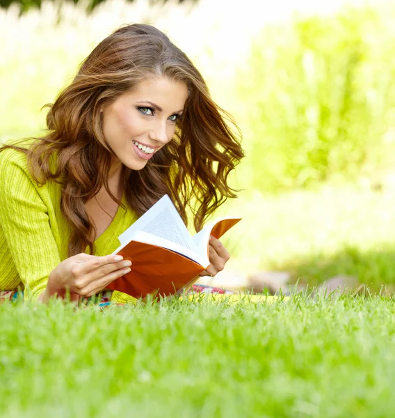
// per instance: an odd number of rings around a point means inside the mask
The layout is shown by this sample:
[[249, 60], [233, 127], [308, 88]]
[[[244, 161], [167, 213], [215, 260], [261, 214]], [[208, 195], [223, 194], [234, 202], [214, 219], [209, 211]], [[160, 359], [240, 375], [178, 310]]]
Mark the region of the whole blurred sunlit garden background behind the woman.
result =
[[243, 132], [243, 192], [223, 208], [244, 217], [234, 268], [395, 283], [392, 1], [22, 3], [0, 9], [0, 141], [40, 134], [42, 105], [108, 33], [155, 24]]

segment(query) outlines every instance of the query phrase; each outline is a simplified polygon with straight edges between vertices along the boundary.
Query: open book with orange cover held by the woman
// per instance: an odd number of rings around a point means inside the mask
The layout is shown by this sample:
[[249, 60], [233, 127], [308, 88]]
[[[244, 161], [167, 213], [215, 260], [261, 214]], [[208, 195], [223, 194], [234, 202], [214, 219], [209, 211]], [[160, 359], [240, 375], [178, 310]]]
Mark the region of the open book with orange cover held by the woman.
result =
[[166, 194], [118, 237], [113, 254], [133, 264], [106, 288], [134, 297], [177, 293], [209, 266], [210, 235], [220, 238], [240, 220], [217, 219], [192, 237]]

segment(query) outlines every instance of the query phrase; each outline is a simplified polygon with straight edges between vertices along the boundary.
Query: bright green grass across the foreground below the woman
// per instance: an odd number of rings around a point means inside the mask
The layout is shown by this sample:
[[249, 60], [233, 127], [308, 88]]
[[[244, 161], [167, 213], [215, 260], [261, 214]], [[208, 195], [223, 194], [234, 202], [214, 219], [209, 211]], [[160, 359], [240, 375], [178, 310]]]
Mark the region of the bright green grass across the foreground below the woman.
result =
[[3, 417], [391, 417], [394, 300], [0, 305]]

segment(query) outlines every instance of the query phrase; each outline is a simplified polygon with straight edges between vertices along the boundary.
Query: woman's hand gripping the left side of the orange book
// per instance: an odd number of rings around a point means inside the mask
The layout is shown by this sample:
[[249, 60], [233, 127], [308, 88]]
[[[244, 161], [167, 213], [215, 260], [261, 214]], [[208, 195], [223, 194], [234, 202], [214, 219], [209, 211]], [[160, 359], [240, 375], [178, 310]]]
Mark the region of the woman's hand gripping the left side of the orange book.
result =
[[62, 261], [49, 274], [47, 288], [39, 300], [46, 302], [50, 297], [66, 297], [77, 302], [80, 296], [90, 297], [102, 291], [111, 281], [127, 274], [131, 261], [122, 256], [91, 256], [77, 254]]

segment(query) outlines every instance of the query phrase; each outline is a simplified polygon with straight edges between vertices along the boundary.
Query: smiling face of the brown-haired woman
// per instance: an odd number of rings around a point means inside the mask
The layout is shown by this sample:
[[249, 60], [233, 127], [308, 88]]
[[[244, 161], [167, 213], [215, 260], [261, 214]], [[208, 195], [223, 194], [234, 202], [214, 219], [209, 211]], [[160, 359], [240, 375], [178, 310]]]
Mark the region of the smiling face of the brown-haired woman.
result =
[[131, 170], [143, 169], [171, 141], [187, 97], [185, 84], [157, 77], [104, 107], [103, 133], [116, 162]]

